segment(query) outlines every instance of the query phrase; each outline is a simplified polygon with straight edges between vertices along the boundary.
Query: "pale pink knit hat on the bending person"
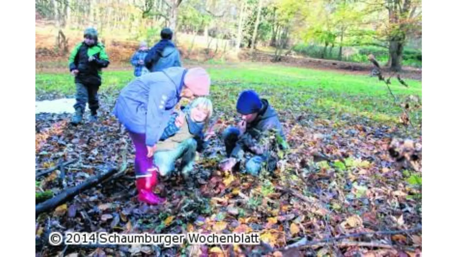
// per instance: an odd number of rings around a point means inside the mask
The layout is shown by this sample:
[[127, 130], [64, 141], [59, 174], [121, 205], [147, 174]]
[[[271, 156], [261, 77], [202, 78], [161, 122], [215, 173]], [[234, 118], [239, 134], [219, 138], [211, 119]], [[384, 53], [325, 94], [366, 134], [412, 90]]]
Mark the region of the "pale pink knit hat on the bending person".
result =
[[188, 87], [196, 96], [209, 95], [209, 85], [211, 79], [203, 68], [191, 68], [184, 76], [184, 85]]

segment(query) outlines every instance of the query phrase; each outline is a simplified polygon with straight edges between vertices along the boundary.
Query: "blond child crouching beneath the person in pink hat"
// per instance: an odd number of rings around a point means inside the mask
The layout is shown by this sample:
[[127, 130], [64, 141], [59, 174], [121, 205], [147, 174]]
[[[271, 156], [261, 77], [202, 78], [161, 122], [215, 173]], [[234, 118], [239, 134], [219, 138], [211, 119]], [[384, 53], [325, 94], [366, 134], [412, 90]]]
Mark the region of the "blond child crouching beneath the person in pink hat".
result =
[[173, 114], [154, 154], [154, 162], [161, 176], [174, 171], [175, 162], [182, 158], [179, 170], [186, 179], [189, 177], [196, 152], [203, 147], [203, 130], [212, 114], [213, 103], [205, 97], [197, 98]]

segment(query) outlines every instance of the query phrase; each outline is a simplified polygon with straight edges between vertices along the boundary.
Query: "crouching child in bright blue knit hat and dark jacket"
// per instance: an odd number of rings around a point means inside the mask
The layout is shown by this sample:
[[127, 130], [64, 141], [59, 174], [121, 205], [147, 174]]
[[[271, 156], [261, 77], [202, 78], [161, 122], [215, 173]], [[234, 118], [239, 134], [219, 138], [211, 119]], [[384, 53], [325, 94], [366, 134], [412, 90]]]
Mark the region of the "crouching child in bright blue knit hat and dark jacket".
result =
[[276, 169], [278, 161], [275, 154], [269, 153], [268, 131], [273, 131], [279, 139], [279, 148], [288, 147], [282, 125], [276, 111], [266, 99], [261, 99], [255, 91], [246, 90], [239, 95], [236, 109], [242, 121], [238, 127], [230, 127], [223, 132], [227, 159], [220, 167], [223, 171], [232, 170], [239, 161], [244, 160], [244, 151], [254, 156], [246, 162], [247, 173], [258, 176], [264, 164], [269, 172]]

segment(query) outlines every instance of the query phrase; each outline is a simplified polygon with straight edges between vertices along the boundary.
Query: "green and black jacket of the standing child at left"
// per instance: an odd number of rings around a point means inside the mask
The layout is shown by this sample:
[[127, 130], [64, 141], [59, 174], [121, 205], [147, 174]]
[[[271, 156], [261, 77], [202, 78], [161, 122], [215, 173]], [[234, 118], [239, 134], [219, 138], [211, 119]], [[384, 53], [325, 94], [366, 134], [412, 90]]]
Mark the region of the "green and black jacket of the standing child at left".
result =
[[[89, 62], [90, 56], [94, 57], [91, 62]], [[100, 86], [101, 69], [108, 67], [109, 63], [105, 46], [101, 43], [89, 46], [81, 42], [71, 51], [69, 58], [70, 71], [79, 70], [74, 82], [82, 83], [86, 86]]]

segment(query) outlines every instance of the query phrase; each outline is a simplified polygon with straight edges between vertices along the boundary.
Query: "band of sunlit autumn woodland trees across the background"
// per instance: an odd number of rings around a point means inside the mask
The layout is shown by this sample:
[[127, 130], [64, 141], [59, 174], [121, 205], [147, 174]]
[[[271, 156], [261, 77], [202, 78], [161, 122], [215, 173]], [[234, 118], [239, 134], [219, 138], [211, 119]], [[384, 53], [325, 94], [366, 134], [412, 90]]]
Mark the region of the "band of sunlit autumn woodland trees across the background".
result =
[[[315, 58], [367, 61], [358, 56], [370, 51], [365, 46], [377, 46], [386, 49], [383, 62], [400, 70], [405, 46], [421, 34], [419, 0], [36, 0], [35, 4], [37, 17], [54, 24], [55, 46], [61, 53], [68, 52], [68, 38], [74, 37], [68, 33], [87, 26], [97, 27], [102, 39], [149, 43], [158, 39], [161, 28], [170, 27], [178, 45], [182, 33], [189, 53], [197, 44], [207, 52], [223, 49], [224, 54], [247, 47], [250, 52], [274, 51], [278, 61], [284, 49], [288, 54], [299, 45], [304, 46], [300, 53]], [[420, 48], [420, 42], [410, 45]], [[349, 58], [362, 48], [357, 59]]]

